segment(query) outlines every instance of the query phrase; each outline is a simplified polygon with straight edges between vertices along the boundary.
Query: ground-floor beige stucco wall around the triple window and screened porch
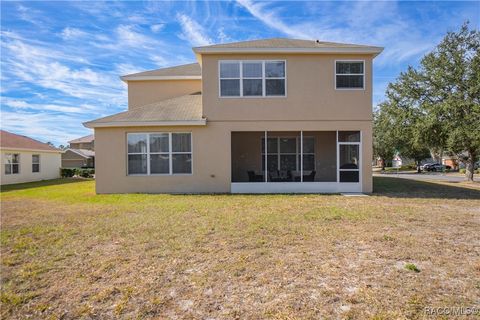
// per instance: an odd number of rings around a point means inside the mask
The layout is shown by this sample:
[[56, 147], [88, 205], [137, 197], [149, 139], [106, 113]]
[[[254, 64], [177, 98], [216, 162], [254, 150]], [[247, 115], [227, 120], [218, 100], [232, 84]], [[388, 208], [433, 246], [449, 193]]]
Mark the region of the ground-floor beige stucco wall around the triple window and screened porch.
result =
[[[232, 131], [332, 131], [360, 130], [362, 147], [362, 188], [372, 191], [371, 121], [238, 121], [208, 122], [198, 127], [97, 128], [97, 193], [210, 193], [230, 192]], [[172, 176], [128, 176], [127, 132], [191, 132], [193, 174]]]

